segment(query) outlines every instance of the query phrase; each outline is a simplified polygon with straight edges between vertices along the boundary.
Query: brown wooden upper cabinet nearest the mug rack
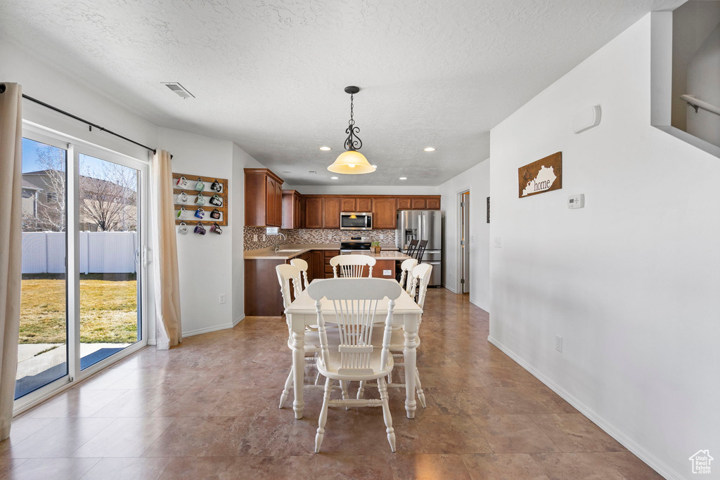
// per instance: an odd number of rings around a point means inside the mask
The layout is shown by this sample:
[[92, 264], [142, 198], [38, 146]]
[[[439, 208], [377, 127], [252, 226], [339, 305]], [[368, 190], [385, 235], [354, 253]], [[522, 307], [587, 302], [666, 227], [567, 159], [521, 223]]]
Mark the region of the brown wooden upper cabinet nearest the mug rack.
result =
[[245, 169], [245, 225], [282, 225], [282, 178], [267, 168]]

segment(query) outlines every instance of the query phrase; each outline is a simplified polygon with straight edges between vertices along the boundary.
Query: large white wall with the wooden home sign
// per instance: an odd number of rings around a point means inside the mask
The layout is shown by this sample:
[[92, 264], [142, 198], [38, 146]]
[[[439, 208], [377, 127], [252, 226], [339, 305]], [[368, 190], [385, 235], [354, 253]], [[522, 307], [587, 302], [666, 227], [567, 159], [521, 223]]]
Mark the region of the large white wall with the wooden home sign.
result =
[[[492, 130], [490, 339], [661, 474], [689, 478], [688, 457], [720, 452], [720, 162], [650, 126], [650, 27]], [[574, 135], [595, 104], [600, 126]], [[557, 151], [562, 189], [518, 199], [518, 167]], [[579, 193], [585, 208], [567, 209]]]

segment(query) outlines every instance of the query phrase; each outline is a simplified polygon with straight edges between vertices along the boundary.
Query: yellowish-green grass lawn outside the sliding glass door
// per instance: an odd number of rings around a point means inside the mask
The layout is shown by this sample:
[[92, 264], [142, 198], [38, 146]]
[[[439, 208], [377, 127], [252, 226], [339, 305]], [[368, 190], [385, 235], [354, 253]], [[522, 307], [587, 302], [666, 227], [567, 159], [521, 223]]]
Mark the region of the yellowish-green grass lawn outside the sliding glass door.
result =
[[[22, 276], [19, 343], [65, 343], [65, 280], [58, 275]], [[138, 340], [135, 274], [80, 276], [80, 342]]]

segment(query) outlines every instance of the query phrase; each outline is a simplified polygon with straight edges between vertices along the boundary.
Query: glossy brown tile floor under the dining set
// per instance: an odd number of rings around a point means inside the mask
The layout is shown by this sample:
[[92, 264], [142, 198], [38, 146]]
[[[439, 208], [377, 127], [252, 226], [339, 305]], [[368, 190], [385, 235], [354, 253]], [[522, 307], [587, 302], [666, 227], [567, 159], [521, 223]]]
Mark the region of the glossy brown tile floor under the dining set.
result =
[[[330, 409], [322, 392], [277, 403], [291, 362], [283, 320], [148, 347], [18, 417], [0, 443], [4, 479], [659, 479], [487, 342], [487, 313], [431, 289], [418, 365], [427, 408], [391, 391], [397, 453], [377, 408]], [[311, 371], [308, 371], [311, 374]], [[314, 378], [314, 375], [313, 375]], [[367, 390], [368, 396], [377, 391]]]

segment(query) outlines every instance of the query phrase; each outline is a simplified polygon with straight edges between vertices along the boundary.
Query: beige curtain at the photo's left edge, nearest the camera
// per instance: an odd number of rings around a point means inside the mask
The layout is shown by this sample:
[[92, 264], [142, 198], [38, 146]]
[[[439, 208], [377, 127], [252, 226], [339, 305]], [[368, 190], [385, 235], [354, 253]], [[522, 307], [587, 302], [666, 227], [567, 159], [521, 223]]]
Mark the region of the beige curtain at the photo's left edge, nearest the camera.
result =
[[22, 92], [0, 83], [0, 440], [10, 436], [22, 276]]

